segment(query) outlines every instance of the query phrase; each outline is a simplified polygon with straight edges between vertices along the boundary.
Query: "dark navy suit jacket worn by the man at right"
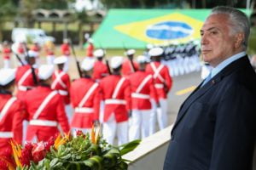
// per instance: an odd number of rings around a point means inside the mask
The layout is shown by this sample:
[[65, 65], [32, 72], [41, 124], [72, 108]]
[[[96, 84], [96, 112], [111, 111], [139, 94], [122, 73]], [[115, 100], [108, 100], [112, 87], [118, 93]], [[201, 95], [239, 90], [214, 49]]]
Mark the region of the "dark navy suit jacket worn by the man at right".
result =
[[247, 56], [199, 87], [178, 112], [164, 170], [252, 169], [256, 74]]

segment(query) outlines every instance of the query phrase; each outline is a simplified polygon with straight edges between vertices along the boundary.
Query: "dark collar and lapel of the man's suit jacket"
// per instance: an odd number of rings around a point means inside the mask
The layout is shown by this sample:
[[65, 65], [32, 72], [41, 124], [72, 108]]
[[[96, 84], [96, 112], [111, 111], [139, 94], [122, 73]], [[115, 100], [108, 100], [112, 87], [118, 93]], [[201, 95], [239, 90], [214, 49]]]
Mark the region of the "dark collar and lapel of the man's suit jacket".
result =
[[247, 55], [244, 57], [237, 59], [236, 61], [232, 62], [230, 65], [227, 65], [222, 71], [220, 71], [215, 77], [212, 77], [209, 82], [207, 82], [203, 87], [201, 87], [201, 84], [195, 88], [194, 92], [189, 95], [189, 97], [183, 102], [183, 105], [181, 105], [180, 110], [177, 115], [176, 122], [172, 128], [177, 127], [177, 124], [182, 120], [183, 116], [185, 115], [186, 111], [189, 109], [189, 106], [194, 103], [196, 99], [199, 99], [201, 95], [207, 93], [208, 90], [213, 88], [215, 85], [218, 84], [218, 82], [221, 82], [224, 77], [230, 75], [231, 72], [241, 69], [242, 65], [245, 65], [248, 62]]

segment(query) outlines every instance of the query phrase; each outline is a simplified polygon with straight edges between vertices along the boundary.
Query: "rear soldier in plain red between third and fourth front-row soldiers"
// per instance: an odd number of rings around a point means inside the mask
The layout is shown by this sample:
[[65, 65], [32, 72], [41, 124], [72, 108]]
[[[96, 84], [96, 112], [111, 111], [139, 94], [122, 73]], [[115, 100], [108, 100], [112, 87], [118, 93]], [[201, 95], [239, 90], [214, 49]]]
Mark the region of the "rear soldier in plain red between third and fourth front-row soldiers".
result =
[[103, 77], [107, 77], [109, 75], [108, 67], [102, 61], [105, 56], [105, 52], [103, 49], [96, 49], [93, 55], [96, 57], [97, 61], [93, 67], [92, 78], [96, 80], [96, 82], [99, 82]]

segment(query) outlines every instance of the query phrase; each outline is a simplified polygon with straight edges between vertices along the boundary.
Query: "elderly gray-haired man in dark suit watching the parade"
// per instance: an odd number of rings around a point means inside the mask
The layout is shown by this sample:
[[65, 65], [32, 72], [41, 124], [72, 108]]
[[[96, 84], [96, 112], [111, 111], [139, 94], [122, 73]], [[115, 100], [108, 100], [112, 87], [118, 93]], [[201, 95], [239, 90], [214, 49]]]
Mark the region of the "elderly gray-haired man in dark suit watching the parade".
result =
[[164, 170], [250, 170], [256, 128], [256, 75], [246, 55], [247, 16], [212, 9], [201, 52], [213, 69], [180, 108]]

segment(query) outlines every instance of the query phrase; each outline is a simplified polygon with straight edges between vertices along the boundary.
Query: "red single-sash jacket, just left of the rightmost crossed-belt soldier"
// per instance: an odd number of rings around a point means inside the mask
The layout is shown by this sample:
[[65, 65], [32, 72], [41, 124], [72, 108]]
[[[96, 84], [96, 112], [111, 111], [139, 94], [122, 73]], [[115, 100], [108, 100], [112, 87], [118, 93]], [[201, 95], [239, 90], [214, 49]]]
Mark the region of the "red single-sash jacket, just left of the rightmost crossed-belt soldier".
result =
[[137, 110], [150, 110], [150, 99], [158, 102], [154, 79], [146, 71], [136, 71], [129, 76], [131, 82], [131, 108]]

